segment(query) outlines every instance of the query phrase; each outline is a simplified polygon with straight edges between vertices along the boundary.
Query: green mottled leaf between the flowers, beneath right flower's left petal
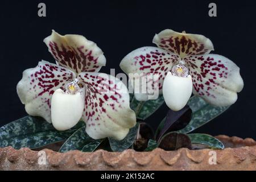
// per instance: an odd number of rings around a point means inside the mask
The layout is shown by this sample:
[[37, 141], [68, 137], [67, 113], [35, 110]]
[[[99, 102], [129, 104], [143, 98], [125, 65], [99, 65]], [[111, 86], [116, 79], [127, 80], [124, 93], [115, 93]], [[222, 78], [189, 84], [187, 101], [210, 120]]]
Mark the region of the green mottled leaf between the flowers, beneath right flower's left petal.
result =
[[142, 120], [150, 117], [150, 115], [155, 113], [155, 111], [164, 103], [163, 96], [159, 96], [156, 100], [148, 100], [144, 102], [137, 101], [133, 95], [130, 96], [133, 97], [130, 102], [130, 107], [137, 113], [137, 118]]

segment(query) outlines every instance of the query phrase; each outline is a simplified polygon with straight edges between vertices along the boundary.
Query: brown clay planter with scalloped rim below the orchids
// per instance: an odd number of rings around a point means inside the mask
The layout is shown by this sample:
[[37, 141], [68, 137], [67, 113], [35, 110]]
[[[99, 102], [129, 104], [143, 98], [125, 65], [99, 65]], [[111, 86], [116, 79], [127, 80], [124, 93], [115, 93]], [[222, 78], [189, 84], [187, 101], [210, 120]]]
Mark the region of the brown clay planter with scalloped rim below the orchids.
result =
[[[164, 151], [93, 153], [70, 151], [59, 153], [49, 149], [46, 164], [38, 164], [38, 151], [29, 148], [14, 150], [0, 148], [1, 170], [256, 170], [256, 142], [238, 137], [217, 137], [226, 146], [224, 150]], [[216, 151], [217, 164], [209, 164], [209, 152]]]

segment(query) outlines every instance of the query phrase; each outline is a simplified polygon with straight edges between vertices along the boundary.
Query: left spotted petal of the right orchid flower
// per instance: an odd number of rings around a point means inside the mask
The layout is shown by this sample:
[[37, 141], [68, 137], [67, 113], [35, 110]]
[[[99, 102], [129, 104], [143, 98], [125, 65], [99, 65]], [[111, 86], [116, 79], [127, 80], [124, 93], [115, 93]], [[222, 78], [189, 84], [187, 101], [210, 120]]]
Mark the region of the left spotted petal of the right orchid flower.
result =
[[[152, 86], [153, 89], [159, 89], [159, 93], [162, 93], [164, 77], [178, 60], [179, 56], [163, 49], [142, 47], [126, 55], [120, 67], [127, 75], [129, 74], [130, 80], [134, 81], [136, 99], [145, 101], [148, 100], [150, 93], [142, 92], [143, 88]], [[149, 75], [150, 73], [157, 76], [157, 79]], [[143, 81], [144, 77], [147, 78], [146, 81]]]

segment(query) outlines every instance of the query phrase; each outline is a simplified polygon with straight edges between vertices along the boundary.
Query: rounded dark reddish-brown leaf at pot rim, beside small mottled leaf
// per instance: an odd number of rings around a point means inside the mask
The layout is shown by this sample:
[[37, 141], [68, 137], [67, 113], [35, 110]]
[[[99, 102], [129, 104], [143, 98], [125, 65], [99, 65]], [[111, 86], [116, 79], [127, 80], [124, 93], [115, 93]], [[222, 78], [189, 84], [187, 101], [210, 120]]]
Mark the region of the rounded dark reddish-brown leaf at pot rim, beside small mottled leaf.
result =
[[164, 150], [177, 150], [184, 147], [190, 149], [191, 140], [188, 135], [171, 132], [163, 136], [158, 147]]

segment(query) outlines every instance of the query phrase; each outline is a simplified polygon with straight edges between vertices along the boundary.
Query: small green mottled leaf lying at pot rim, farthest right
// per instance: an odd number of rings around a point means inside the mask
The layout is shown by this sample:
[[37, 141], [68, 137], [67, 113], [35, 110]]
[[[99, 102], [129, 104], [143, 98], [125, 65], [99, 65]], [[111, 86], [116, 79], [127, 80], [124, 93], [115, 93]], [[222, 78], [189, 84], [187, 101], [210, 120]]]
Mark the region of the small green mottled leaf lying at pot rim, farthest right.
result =
[[224, 144], [217, 138], [214, 138], [207, 134], [188, 134], [191, 139], [191, 143], [204, 144], [212, 149], [223, 149]]

